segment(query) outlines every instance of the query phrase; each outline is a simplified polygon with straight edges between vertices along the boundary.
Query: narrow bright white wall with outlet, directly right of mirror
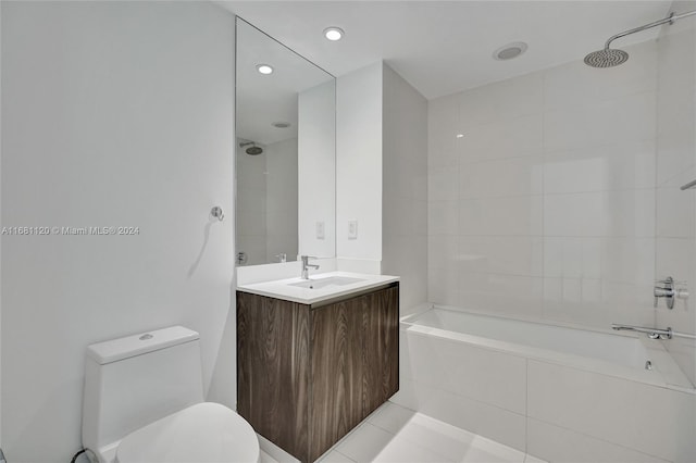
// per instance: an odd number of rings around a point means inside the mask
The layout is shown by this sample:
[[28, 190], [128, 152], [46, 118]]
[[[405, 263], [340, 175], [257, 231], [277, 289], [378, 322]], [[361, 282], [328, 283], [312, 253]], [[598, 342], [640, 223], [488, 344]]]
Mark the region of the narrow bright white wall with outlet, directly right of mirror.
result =
[[[382, 261], [382, 62], [336, 82], [336, 255]], [[348, 222], [358, 238], [348, 239]]]

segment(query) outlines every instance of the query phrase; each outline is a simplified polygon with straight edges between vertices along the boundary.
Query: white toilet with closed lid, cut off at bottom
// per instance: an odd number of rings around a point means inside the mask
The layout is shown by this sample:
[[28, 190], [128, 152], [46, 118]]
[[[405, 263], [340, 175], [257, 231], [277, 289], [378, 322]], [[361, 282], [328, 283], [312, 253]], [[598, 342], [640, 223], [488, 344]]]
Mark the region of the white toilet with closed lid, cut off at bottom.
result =
[[259, 461], [251, 425], [203, 401], [199, 338], [173, 326], [87, 348], [83, 446], [94, 463]]

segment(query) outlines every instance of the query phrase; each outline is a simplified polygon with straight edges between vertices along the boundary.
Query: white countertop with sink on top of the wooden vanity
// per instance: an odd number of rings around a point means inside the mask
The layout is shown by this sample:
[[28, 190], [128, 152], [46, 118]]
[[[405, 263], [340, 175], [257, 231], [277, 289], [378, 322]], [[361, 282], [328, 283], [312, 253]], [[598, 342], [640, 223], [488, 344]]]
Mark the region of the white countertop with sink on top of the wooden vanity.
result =
[[237, 290], [309, 305], [340, 296], [350, 295], [351, 292], [376, 288], [378, 286], [399, 280], [398, 276], [366, 275], [351, 272], [326, 272], [321, 274], [313, 274], [310, 276], [309, 280], [320, 281], [321, 279], [331, 277], [357, 278], [360, 279], [360, 281], [350, 283], [347, 285], [328, 285], [323, 288], [310, 289], [291, 286], [293, 284], [308, 281], [307, 279], [296, 277], [276, 279], [273, 281], [254, 283], [250, 285], [237, 285]]

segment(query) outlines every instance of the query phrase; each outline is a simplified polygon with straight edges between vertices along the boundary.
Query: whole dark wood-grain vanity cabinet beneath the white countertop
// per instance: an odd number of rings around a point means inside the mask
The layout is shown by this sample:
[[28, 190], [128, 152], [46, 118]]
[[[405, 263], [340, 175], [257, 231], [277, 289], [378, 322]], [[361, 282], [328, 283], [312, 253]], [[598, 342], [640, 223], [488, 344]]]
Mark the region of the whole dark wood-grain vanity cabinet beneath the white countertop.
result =
[[238, 412], [300, 461], [398, 389], [398, 283], [312, 305], [237, 291]]

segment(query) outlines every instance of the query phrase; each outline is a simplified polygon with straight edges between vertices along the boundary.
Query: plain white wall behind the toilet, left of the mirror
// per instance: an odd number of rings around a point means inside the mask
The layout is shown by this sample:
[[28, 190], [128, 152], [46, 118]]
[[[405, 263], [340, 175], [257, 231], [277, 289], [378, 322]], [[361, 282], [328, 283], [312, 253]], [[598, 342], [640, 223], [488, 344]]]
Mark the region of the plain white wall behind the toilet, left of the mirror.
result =
[[[87, 345], [183, 324], [235, 402], [234, 17], [206, 2], [2, 2], [2, 445], [80, 446]], [[227, 218], [209, 214], [221, 205]]]

